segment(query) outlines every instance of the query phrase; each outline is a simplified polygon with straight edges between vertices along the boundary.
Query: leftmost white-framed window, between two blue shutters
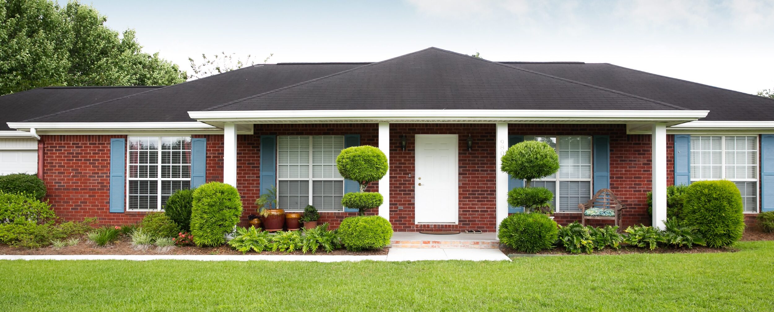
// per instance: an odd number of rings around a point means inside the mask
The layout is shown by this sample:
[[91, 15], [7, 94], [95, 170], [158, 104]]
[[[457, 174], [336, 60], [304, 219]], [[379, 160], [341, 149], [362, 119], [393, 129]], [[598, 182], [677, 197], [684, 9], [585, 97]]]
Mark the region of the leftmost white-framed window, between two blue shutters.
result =
[[130, 136], [128, 141], [127, 210], [162, 211], [176, 190], [190, 189], [190, 137]]

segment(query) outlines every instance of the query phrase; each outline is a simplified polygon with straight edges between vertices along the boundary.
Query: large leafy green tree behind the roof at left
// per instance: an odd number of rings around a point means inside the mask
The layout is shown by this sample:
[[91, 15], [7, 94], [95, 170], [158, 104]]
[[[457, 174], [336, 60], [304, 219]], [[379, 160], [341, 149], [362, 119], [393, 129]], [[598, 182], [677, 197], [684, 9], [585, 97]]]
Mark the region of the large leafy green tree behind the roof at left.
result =
[[159, 53], [142, 53], [135, 31], [104, 26], [89, 5], [0, 0], [0, 94], [50, 85], [167, 85], [187, 79]]

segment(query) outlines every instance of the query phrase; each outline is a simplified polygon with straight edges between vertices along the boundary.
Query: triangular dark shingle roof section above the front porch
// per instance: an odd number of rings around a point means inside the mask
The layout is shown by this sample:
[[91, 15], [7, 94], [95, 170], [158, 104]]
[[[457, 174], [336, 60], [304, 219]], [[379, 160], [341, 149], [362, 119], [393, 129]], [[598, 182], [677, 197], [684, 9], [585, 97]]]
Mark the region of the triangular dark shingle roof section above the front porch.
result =
[[211, 108], [685, 109], [460, 53], [428, 48]]

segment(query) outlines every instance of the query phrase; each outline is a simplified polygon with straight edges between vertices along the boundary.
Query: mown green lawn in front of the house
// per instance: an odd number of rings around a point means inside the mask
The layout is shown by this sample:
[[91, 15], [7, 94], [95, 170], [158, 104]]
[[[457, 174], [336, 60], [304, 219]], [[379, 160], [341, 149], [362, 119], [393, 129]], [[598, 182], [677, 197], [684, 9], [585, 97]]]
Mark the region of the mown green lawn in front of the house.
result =
[[0, 261], [0, 310], [774, 310], [774, 242], [738, 247], [514, 262]]

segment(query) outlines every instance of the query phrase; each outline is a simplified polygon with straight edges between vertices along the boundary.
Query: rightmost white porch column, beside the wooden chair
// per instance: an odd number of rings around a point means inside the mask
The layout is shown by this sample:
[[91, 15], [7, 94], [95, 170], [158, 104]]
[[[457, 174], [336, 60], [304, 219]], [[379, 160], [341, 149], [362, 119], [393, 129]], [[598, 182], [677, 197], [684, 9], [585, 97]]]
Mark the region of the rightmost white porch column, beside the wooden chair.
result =
[[666, 124], [654, 123], [652, 141], [652, 192], [654, 228], [664, 228], [666, 220]]

